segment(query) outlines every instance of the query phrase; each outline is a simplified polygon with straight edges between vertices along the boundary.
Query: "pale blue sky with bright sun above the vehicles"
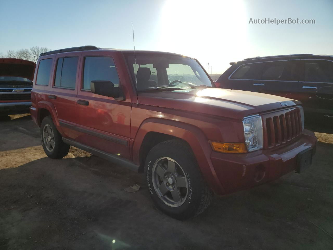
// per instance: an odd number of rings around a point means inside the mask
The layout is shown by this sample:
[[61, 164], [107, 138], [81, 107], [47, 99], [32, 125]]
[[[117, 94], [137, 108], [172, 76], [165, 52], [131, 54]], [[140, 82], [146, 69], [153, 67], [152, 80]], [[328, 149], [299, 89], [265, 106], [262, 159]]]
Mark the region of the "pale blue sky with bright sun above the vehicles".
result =
[[[209, 73], [229, 62], [283, 54], [333, 54], [333, 0], [0, 0], [0, 53], [95, 45], [179, 53]], [[253, 24], [314, 19], [315, 24]], [[212, 68], [211, 68], [212, 66]]]

